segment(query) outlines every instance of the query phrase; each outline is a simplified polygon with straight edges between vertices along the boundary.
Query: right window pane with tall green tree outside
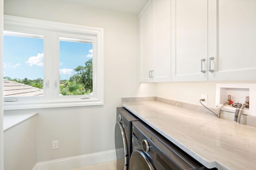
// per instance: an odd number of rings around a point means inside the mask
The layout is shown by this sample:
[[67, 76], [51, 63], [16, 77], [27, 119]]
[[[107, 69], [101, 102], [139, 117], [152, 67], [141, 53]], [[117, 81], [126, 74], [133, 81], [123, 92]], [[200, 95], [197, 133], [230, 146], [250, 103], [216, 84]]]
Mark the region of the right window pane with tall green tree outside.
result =
[[60, 95], [92, 91], [92, 41], [60, 37]]

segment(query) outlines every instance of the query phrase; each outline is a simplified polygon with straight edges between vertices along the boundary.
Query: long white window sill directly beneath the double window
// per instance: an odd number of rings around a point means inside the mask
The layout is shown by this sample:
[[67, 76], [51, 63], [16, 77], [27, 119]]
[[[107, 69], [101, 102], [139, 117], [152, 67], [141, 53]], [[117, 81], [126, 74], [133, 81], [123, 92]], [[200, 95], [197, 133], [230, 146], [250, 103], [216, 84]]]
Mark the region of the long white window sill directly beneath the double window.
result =
[[34, 101], [18, 100], [16, 102], [4, 102], [4, 110], [16, 109], [38, 109], [38, 108], [53, 108], [53, 107], [75, 107], [75, 106], [94, 106], [103, 105], [103, 100], [98, 98], [72, 98], [72, 99], [58, 99], [58, 100], [45, 100], [38, 99]]

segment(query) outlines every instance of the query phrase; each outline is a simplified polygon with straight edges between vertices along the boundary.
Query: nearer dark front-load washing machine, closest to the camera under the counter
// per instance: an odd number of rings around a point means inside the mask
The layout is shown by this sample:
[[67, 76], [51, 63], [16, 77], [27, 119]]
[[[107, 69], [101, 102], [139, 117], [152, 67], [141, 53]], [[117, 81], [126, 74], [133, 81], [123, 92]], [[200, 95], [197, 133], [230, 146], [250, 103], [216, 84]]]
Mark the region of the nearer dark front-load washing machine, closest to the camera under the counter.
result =
[[142, 121], [132, 123], [129, 167], [130, 170], [208, 170]]

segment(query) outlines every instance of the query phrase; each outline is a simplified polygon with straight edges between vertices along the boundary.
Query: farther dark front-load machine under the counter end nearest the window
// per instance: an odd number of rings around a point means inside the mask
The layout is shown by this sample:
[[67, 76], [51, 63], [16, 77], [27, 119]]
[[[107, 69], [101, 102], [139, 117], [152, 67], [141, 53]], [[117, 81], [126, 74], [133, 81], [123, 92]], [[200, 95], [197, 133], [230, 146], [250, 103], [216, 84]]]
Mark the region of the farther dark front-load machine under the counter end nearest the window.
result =
[[124, 107], [116, 108], [115, 146], [117, 170], [128, 170], [132, 150], [132, 122], [138, 118]]

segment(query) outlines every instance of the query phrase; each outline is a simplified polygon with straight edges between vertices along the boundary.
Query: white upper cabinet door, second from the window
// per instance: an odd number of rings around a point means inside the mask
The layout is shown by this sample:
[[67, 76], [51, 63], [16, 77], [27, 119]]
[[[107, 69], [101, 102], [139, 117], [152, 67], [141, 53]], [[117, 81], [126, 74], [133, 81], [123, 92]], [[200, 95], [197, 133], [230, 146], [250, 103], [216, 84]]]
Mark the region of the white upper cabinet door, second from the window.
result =
[[153, 55], [154, 82], [171, 81], [171, 1], [153, 0]]

